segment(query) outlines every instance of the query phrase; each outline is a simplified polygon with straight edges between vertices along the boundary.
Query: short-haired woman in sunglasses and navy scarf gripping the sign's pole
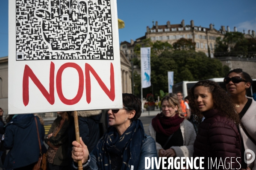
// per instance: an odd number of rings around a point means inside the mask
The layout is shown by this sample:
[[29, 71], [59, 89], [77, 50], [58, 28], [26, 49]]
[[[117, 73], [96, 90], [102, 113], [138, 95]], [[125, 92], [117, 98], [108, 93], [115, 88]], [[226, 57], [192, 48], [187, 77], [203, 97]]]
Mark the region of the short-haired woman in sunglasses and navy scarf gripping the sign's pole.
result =
[[[123, 94], [123, 109], [110, 109], [109, 128], [89, 153], [80, 138], [73, 141], [73, 167], [82, 160], [84, 170], [144, 170], [145, 157], [157, 157], [156, 143], [144, 133], [141, 121], [141, 100], [132, 94]], [[154, 165], [154, 167], [156, 167]], [[151, 169], [151, 168], [150, 168]]]

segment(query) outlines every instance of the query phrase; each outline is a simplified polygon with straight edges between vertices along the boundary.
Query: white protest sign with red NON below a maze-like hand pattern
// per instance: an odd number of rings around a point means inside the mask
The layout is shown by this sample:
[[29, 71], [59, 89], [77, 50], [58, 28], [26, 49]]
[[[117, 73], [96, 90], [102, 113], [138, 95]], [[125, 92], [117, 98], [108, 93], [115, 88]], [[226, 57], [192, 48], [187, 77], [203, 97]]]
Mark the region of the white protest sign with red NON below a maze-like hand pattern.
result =
[[9, 0], [9, 114], [122, 108], [116, 0]]

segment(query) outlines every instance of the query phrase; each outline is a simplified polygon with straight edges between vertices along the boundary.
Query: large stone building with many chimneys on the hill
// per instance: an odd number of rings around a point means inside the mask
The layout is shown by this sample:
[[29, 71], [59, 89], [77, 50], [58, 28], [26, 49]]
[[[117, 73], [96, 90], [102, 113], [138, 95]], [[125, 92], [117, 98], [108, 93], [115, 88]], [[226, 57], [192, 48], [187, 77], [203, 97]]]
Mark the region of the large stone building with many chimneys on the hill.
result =
[[[234, 32], [237, 32], [236, 27], [234, 27]], [[213, 58], [214, 49], [216, 46], [216, 38], [223, 38], [226, 32], [231, 32], [230, 27], [221, 26], [221, 29], [217, 30], [214, 28], [214, 25], [210, 24], [209, 28], [196, 26], [194, 21], [190, 21], [190, 25], [185, 25], [185, 21], [182, 20], [180, 24], [171, 24], [170, 21], [167, 21], [166, 25], [158, 25], [158, 22], [153, 23], [153, 26], [150, 28], [147, 26], [147, 32], [145, 36], [136, 39], [131, 42], [121, 42], [120, 50], [124, 52], [127, 58], [130, 60], [133, 57], [136, 57], [134, 53], [134, 47], [137, 43], [141, 43], [143, 39], [150, 38], [152, 42], [167, 41], [170, 44], [175, 43], [180, 38], [192, 39], [192, 42], [196, 43], [196, 52], [204, 52], [207, 56], [210, 55]], [[255, 32], [248, 31], [248, 34], [245, 37], [254, 37], [256, 38]]]

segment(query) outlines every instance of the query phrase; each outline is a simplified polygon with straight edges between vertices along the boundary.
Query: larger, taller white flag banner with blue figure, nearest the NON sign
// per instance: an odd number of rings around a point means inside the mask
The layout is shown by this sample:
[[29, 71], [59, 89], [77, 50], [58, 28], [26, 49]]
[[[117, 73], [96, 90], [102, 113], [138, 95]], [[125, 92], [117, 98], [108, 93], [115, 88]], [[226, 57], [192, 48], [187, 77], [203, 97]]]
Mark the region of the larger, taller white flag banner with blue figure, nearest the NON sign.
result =
[[141, 48], [141, 88], [151, 86], [150, 47]]

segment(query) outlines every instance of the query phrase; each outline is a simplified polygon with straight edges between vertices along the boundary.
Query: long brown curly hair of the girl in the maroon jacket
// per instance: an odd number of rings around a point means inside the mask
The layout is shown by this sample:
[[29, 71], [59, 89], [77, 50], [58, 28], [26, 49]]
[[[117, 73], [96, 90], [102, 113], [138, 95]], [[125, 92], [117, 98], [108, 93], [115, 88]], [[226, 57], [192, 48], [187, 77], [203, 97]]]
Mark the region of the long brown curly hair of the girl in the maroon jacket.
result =
[[194, 100], [194, 89], [197, 86], [208, 87], [209, 92], [212, 93], [214, 107], [215, 109], [218, 109], [219, 114], [230, 118], [236, 125], [240, 124], [240, 118], [235, 111], [235, 106], [230, 95], [228, 95], [215, 81], [210, 80], [198, 81], [188, 92], [189, 107], [191, 108], [191, 113], [196, 115], [195, 118], [198, 122], [202, 121], [203, 114], [197, 109], [197, 104]]

